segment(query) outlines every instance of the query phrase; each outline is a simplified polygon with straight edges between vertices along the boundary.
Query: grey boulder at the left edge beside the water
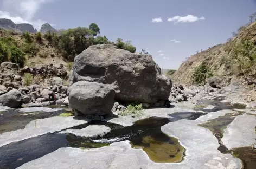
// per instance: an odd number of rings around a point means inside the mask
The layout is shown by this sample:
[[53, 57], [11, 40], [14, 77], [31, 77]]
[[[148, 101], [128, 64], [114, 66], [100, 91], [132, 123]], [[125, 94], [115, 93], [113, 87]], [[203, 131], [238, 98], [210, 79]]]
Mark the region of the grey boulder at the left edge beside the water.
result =
[[3, 106], [16, 108], [22, 105], [22, 96], [18, 90], [11, 90], [0, 96], [0, 103]]

